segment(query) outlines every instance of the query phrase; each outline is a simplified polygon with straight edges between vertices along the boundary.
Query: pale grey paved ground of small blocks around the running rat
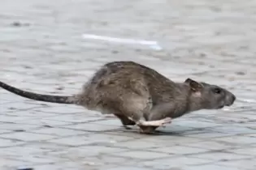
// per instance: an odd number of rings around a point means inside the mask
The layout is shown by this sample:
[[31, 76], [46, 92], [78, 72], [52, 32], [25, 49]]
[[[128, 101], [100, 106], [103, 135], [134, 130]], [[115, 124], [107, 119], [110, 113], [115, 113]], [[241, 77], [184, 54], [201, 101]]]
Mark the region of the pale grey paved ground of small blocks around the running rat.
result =
[[[115, 117], [26, 100], [0, 89], [0, 167], [36, 170], [254, 170], [256, 2], [253, 0], [2, 0], [1, 81], [73, 94], [106, 62], [132, 60], [176, 81], [227, 87], [231, 108], [173, 121], [165, 134], [124, 130]], [[146, 45], [82, 34], [157, 40]]]

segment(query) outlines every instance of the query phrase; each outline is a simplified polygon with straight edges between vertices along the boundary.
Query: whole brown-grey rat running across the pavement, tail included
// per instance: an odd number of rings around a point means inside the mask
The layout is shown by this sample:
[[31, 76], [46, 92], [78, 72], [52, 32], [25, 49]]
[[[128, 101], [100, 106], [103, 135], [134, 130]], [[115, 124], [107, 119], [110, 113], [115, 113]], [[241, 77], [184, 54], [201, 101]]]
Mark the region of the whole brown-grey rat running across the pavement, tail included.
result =
[[125, 128], [137, 125], [144, 134], [153, 133], [184, 114], [220, 109], [236, 100], [236, 96], [223, 87], [190, 78], [174, 82], [132, 61], [107, 62], [72, 96], [42, 95], [2, 82], [0, 87], [31, 100], [76, 104], [102, 114], [114, 114]]

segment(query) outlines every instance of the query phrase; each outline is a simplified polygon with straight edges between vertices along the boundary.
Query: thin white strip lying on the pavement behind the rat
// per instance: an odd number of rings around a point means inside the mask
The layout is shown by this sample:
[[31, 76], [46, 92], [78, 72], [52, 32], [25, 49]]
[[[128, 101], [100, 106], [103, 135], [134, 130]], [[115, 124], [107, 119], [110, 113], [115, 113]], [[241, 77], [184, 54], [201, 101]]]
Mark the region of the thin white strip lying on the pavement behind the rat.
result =
[[93, 40], [106, 40], [109, 42], [123, 43], [123, 44], [132, 44], [132, 45], [148, 45], [150, 49], [161, 50], [163, 49], [160, 45], [158, 45], [157, 41], [152, 40], [134, 40], [134, 39], [124, 39], [117, 38], [111, 36], [97, 36], [93, 34], [83, 34], [83, 38], [85, 39], [93, 39]]

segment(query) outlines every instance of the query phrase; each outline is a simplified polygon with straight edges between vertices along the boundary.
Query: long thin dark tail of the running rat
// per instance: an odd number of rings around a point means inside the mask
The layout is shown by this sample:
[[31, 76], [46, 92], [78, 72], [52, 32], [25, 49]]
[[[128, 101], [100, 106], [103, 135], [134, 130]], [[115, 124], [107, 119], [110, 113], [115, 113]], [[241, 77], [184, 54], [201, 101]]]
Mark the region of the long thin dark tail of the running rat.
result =
[[31, 100], [39, 100], [39, 101], [58, 103], [58, 104], [76, 104], [76, 99], [74, 96], [41, 95], [33, 92], [20, 90], [16, 87], [12, 87], [8, 85], [7, 83], [2, 83], [1, 81], [0, 81], [0, 87], [2, 87], [3, 89], [6, 89], [7, 91], [15, 93], [16, 95], [23, 96]]

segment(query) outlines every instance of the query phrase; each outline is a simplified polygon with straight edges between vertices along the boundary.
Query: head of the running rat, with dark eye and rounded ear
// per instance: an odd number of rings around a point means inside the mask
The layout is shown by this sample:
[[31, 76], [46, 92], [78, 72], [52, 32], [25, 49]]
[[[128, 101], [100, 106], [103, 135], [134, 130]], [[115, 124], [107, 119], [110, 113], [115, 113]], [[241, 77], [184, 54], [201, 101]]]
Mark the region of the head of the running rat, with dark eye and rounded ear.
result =
[[231, 106], [236, 100], [232, 92], [213, 84], [198, 83], [189, 78], [184, 83], [190, 87], [192, 109], [219, 109]]

